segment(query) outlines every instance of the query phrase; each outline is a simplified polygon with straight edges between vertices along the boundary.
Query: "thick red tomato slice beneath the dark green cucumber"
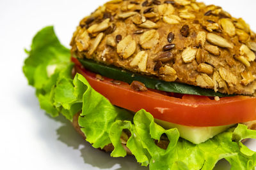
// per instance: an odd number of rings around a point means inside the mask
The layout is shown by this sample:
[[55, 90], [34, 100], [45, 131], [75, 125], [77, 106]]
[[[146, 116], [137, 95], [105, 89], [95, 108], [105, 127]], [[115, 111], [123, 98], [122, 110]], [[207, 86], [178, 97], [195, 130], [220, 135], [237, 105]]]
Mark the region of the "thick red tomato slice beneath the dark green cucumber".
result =
[[184, 95], [182, 99], [165, 96], [156, 90], [137, 92], [130, 85], [103, 77], [76, 65], [76, 72], [82, 74], [93, 89], [109, 99], [115, 106], [131, 111], [145, 109], [154, 118], [174, 124], [209, 127], [230, 125], [256, 120], [256, 98], [247, 96], [222, 97], [220, 101], [205, 96]]

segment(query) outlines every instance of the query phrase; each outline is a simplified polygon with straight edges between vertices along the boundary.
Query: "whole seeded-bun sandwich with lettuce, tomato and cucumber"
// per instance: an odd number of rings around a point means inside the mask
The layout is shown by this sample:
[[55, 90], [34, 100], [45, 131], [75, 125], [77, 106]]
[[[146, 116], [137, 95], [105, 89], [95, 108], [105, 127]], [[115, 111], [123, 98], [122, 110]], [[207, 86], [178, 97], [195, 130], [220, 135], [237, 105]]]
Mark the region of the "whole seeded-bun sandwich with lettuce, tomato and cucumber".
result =
[[33, 39], [23, 71], [40, 107], [94, 148], [150, 169], [253, 169], [256, 35], [220, 6], [113, 0], [61, 45]]

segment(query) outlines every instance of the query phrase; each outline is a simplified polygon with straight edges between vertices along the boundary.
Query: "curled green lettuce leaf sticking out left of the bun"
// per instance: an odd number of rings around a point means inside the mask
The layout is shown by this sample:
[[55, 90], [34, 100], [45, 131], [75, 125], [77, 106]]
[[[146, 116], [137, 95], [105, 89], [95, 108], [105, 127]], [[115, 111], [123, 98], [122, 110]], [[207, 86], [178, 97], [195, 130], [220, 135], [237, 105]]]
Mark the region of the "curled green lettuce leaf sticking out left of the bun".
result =
[[[62, 113], [68, 120], [81, 110], [79, 82], [73, 82], [70, 51], [61, 45], [53, 27], [45, 27], [33, 38], [23, 72], [36, 89], [42, 109], [52, 117]], [[74, 88], [76, 87], [76, 88]]]

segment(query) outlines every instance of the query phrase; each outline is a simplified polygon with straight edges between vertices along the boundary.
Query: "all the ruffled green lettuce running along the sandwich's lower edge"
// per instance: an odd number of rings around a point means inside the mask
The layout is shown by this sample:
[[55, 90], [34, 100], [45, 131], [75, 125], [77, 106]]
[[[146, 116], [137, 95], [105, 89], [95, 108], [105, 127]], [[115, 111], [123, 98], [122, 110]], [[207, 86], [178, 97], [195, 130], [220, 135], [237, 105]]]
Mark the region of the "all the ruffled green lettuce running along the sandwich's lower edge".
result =
[[[254, 169], [256, 153], [241, 143], [246, 138], [256, 138], [256, 131], [246, 125], [235, 128], [194, 145], [179, 137], [177, 129], [164, 129], [154, 122], [145, 110], [135, 115], [117, 108], [108, 99], [92, 89], [81, 75], [72, 77], [70, 53], [60, 44], [52, 27], [36, 34], [28, 52], [23, 71], [29, 85], [36, 89], [40, 106], [52, 117], [60, 113], [68, 120], [82, 110], [79, 117], [81, 131], [95, 148], [113, 143], [113, 157], [127, 154], [120, 138], [123, 130], [131, 136], [126, 146], [142, 166], [150, 169], [213, 169], [216, 162], [226, 159], [231, 169]], [[157, 141], [166, 136], [170, 143], [159, 148]], [[127, 137], [127, 136], [126, 136]]]

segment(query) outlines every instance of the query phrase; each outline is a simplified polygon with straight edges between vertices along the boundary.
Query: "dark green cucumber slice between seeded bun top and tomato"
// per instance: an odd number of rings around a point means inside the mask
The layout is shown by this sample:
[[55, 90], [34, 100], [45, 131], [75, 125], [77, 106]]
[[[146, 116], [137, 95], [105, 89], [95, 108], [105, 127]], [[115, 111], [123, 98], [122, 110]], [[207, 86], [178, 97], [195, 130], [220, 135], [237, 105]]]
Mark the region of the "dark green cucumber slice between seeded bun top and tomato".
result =
[[193, 85], [162, 81], [157, 79], [154, 76], [144, 76], [138, 73], [132, 73], [131, 71], [120, 69], [115, 66], [106, 66], [104, 64], [100, 64], [89, 59], [78, 59], [78, 60], [89, 71], [101, 74], [102, 76], [106, 76], [108, 78], [124, 81], [129, 84], [131, 84], [132, 81], [135, 81], [135, 80], [140, 81], [150, 89], [161, 90], [164, 92], [174, 92], [179, 94], [193, 94], [198, 96], [219, 96], [219, 97], [230, 96], [227, 94], [221, 94], [220, 92], [214, 92], [214, 90], [211, 90], [211, 89], [202, 89], [200, 87], [195, 87]]

